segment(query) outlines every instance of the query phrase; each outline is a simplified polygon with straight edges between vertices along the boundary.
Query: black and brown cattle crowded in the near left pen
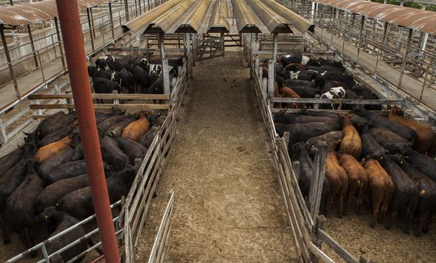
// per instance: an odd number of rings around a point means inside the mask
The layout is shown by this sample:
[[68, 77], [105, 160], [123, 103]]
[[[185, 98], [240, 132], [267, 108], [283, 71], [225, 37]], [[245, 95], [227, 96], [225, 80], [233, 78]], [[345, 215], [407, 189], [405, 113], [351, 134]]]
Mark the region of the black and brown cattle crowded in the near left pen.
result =
[[[164, 120], [160, 114], [119, 109], [95, 115], [110, 203], [115, 203], [127, 195], [136, 174], [134, 160], [145, 156]], [[94, 207], [75, 112], [52, 114], [26, 136], [23, 146], [0, 159], [0, 227], [5, 244], [15, 231], [30, 248], [37, 225], [46, 224], [45, 237], [54, 236], [93, 215]], [[78, 227], [46, 243], [47, 251], [56, 252], [84, 234]], [[86, 242], [57, 255], [60, 262], [86, 250]]]

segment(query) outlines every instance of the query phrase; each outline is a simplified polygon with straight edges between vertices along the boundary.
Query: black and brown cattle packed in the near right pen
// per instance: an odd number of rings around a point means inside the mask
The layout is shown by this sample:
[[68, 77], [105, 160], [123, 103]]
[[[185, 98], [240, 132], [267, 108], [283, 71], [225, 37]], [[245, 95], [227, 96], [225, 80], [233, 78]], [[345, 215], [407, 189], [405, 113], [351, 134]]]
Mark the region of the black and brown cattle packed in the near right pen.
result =
[[391, 107], [387, 116], [356, 107], [350, 113], [317, 112], [300, 109], [274, 114], [278, 135], [290, 133], [289, 151], [300, 161], [298, 184], [309, 195], [314, 149], [327, 144], [326, 171], [320, 213], [326, 215], [328, 202], [338, 200], [339, 216], [357, 197], [360, 214], [364, 195], [371, 199], [374, 227], [390, 210], [385, 227], [390, 228], [404, 211], [408, 232], [416, 216], [414, 234], [427, 232], [436, 212], [436, 134], [431, 128], [404, 116]]

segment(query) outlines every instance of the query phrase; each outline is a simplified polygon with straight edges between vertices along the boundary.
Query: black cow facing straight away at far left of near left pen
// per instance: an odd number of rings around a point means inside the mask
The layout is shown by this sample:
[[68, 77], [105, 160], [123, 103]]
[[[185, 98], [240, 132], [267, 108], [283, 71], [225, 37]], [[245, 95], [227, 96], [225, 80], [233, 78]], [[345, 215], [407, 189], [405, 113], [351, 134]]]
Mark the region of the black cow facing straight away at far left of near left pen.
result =
[[[37, 198], [44, 189], [44, 182], [35, 170], [37, 161], [28, 159], [25, 163], [25, 178], [6, 201], [6, 224], [20, 234], [20, 239], [27, 248], [31, 248], [34, 245], [34, 217], [37, 216]], [[8, 236], [10, 229], [6, 227], [5, 230], [6, 236]], [[34, 255], [36, 255], [36, 251], [32, 253], [32, 256]]]

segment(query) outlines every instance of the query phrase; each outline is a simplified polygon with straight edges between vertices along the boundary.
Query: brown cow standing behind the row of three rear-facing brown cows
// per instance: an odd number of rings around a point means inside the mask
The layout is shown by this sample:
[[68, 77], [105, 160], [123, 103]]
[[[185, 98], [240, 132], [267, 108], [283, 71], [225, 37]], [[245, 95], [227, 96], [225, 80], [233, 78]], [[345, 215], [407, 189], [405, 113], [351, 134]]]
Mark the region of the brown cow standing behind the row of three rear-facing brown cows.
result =
[[362, 142], [359, 132], [354, 128], [348, 114], [338, 114], [342, 117], [342, 131], [344, 138], [340, 143], [340, 154], [350, 154], [355, 159], [359, 160], [362, 154]]

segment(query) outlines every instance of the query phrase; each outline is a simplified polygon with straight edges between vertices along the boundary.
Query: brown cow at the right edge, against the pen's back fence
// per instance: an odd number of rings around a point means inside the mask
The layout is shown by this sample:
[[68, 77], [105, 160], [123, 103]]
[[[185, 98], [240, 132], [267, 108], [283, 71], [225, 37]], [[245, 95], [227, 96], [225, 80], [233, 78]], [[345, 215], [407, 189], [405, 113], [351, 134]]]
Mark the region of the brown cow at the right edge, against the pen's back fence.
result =
[[416, 151], [421, 154], [434, 156], [436, 151], [436, 134], [430, 127], [404, 117], [404, 112], [397, 106], [390, 109], [387, 119], [397, 121], [397, 123], [401, 123], [414, 130], [416, 133]]

